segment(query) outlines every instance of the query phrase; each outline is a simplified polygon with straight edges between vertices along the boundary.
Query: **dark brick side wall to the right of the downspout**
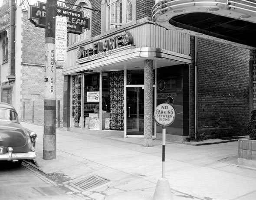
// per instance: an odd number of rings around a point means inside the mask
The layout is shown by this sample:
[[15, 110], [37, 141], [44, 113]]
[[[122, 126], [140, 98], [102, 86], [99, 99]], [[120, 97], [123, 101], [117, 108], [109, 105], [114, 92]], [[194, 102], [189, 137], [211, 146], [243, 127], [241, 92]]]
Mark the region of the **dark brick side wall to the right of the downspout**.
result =
[[[199, 136], [219, 138], [246, 134], [249, 50], [198, 38], [197, 66]], [[190, 72], [193, 73], [193, 69]]]

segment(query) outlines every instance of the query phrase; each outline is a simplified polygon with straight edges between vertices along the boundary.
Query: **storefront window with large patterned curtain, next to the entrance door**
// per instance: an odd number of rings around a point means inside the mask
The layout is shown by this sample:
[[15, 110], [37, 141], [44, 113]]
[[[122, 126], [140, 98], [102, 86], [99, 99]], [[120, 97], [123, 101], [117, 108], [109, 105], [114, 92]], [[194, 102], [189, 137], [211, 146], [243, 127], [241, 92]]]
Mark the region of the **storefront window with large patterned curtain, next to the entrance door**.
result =
[[102, 72], [102, 130], [124, 130], [124, 72]]

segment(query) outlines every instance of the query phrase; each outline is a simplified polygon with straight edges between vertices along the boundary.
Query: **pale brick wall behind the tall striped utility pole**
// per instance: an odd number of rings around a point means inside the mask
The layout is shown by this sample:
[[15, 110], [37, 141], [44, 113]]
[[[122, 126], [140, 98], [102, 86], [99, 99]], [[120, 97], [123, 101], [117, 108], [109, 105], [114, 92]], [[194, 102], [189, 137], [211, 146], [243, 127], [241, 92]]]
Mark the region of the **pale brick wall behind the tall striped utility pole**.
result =
[[[32, 120], [32, 105], [35, 103], [34, 121], [43, 123], [44, 111], [44, 54], [45, 29], [37, 28], [27, 20], [27, 12], [23, 11], [23, 35], [21, 67], [21, 111], [23, 119], [23, 105], [25, 103], [25, 120]], [[19, 30], [16, 30], [19, 32]], [[60, 118], [63, 118], [63, 75], [62, 67], [56, 69], [56, 101], [60, 100]], [[56, 103], [57, 106], [57, 103]], [[56, 108], [56, 117], [57, 117]]]

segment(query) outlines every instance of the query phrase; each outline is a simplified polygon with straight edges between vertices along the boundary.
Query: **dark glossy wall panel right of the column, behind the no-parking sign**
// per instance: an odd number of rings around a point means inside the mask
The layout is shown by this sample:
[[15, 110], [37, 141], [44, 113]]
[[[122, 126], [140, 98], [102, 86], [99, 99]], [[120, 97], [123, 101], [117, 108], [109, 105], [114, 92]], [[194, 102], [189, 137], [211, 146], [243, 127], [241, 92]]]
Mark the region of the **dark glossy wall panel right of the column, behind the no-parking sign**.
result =
[[[183, 67], [171, 66], [157, 69], [157, 105], [169, 103], [175, 110], [175, 121], [166, 127], [166, 134], [183, 133]], [[161, 127], [157, 126], [161, 133]]]

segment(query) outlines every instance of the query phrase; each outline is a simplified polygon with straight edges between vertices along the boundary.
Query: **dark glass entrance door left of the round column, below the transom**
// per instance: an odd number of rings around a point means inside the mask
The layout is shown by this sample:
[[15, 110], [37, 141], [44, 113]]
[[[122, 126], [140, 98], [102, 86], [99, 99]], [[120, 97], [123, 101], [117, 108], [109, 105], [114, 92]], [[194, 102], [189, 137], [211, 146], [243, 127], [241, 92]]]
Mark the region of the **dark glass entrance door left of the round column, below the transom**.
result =
[[144, 134], [144, 89], [127, 87], [127, 135]]

